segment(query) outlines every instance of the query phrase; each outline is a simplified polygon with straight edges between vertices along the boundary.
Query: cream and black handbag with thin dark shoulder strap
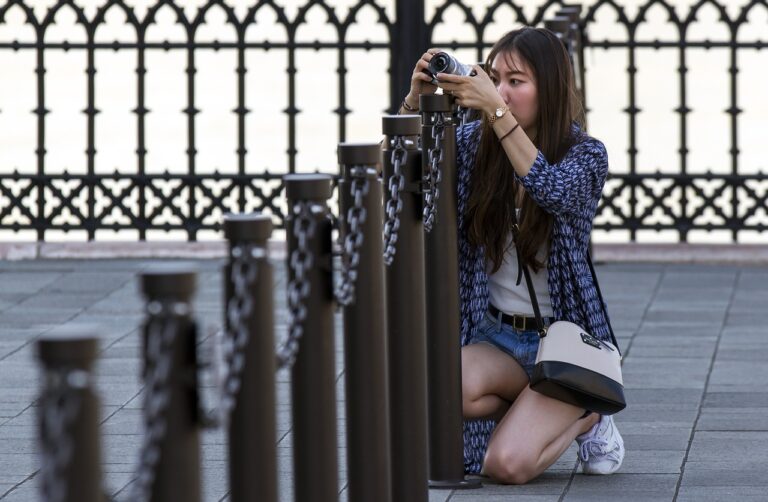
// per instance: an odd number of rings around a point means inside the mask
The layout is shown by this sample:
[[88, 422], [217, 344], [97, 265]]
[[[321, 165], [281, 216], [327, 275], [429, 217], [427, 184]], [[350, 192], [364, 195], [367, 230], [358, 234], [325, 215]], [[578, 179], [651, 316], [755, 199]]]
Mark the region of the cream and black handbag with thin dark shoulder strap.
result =
[[[512, 211], [512, 214], [515, 218], [512, 232], [517, 242], [519, 226], [515, 211]], [[605, 319], [613, 343], [599, 340], [578, 324], [568, 321], [555, 321], [548, 328], [545, 327], [528, 266], [520, 261], [517, 249], [516, 252], [518, 267], [522, 268], [525, 275], [539, 332], [539, 350], [531, 375], [531, 389], [601, 415], [612, 415], [623, 410], [627, 403], [624, 399], [624, 382], [621, 375], [621, 352], [608, 319], [608, 312], [605, 312]], [[589, 253], [587, 260], [600, 305], [605, 308]]]

